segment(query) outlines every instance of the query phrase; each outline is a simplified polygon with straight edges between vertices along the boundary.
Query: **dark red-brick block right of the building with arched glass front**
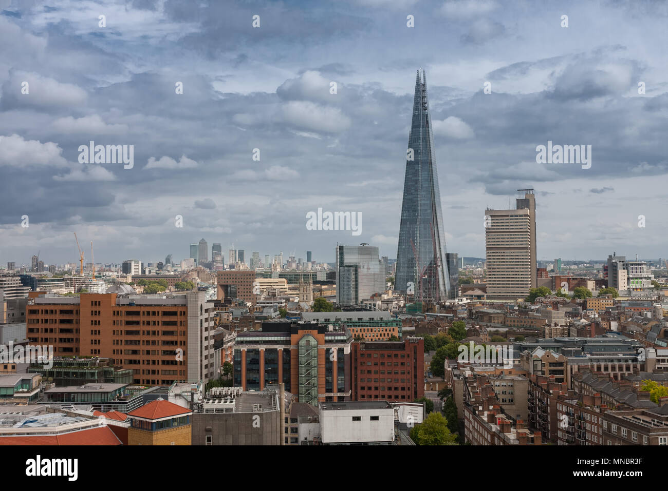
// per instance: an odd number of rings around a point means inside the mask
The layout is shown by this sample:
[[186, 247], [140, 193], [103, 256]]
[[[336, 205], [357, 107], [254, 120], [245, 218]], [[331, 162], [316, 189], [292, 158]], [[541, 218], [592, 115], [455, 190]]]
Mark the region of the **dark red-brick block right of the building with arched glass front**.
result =
[[424, 397], [424, 338], [354, 342], [350, 360], [352, 400]]

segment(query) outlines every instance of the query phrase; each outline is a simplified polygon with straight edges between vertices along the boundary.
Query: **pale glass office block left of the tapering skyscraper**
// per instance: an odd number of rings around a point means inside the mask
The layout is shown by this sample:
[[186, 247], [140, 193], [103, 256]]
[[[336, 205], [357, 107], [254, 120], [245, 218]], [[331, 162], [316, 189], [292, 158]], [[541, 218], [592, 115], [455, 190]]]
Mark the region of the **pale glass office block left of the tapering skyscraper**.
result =
[[336, 300], [341, 306], [360, 305], [362, 300], [385, 291], [385, 272], [378, 258], [378, 248], [337, 246]]

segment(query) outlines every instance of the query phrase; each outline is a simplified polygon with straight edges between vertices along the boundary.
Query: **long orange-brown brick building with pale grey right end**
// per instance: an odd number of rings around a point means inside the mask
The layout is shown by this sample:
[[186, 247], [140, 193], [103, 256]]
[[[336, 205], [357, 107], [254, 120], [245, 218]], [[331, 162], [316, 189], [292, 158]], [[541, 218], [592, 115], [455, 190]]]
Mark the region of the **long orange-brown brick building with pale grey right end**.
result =
[[55, 356], [100, 356], [132, 370], [134, 384], [217, 378], [213, 313], [206, 294], [35, 296], [27, 306], [31, 345]]

